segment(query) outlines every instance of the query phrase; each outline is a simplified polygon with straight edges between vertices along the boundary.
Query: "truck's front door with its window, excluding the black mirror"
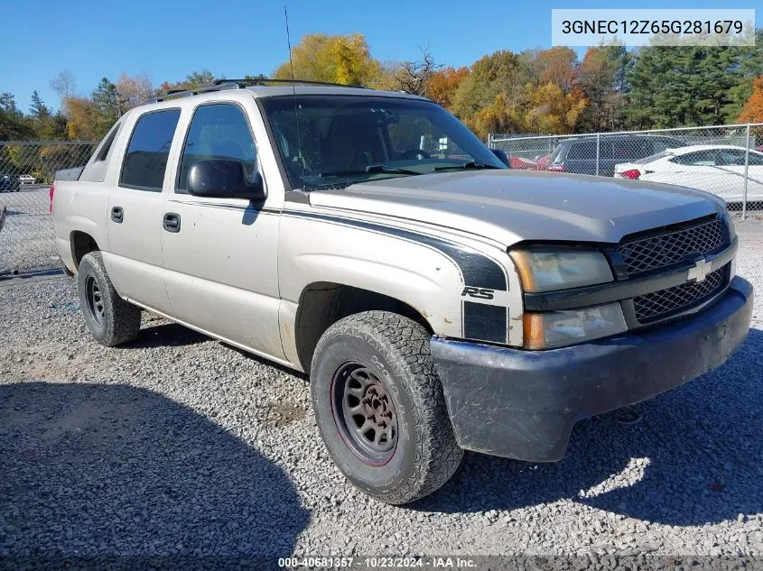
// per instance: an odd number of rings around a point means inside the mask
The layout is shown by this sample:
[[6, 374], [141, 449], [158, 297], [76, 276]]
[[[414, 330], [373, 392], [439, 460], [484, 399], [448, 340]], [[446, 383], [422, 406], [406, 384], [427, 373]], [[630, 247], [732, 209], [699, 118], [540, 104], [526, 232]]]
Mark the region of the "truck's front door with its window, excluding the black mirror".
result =
[[[252, 97], [202, 103], [193, 110], [163, 211], [176, 223], [162, 232], [165, 281], [173, 318], [283, 359], [277, 253], [284, 196], [273, 191], [274, 180], [267, 184], [268, 175], [280, 174], [262, 171], [253, 119], [261, 124]], [[191, 196], [186, 190], [191, 167], [216, 159], [241, 162], [250, 181], [259, 172], [271, 189], [265, 203]]]

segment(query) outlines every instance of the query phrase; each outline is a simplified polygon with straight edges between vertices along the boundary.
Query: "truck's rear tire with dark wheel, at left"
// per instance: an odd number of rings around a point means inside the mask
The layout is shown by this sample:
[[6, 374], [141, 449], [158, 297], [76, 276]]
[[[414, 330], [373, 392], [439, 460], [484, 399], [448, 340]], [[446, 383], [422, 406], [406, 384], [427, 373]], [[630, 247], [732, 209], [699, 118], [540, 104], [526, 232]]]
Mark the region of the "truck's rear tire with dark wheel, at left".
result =
[[96, 341], [113, 347], [132, 341], [140, 330], [141, 309], [116, 293], [100, 252], [86, 253], [77, 275], [79, 307]]

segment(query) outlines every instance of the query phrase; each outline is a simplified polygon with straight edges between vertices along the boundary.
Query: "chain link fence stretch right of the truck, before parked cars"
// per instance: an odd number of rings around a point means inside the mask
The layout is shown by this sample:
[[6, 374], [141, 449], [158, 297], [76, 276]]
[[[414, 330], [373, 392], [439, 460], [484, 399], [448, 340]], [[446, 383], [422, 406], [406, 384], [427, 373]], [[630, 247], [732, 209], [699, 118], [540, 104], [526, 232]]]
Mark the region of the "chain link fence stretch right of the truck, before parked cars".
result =
[[723, 198], [746, 216], [763, 210], [763, 124], [576, 135], [490, 134], [513, 169], [677, 184]]

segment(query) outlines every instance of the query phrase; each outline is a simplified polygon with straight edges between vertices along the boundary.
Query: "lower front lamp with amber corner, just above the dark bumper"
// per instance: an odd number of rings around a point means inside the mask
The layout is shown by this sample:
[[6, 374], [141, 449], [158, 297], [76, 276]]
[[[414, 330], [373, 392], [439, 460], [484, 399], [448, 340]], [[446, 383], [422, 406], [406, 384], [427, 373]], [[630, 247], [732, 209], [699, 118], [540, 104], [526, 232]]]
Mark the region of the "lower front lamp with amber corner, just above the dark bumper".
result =
[[628, 330], [619, 303], [525, 314], [526, 349], [551, 349]]

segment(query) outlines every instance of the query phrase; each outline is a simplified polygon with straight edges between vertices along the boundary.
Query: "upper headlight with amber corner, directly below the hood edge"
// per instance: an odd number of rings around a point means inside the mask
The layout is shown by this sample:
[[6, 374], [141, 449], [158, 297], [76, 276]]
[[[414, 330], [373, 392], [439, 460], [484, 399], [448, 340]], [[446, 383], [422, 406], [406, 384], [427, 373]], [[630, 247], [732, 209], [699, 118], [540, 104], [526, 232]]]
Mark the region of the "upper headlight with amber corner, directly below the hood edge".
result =
[[533, 248], [510, 255], [525, 291], [569, 290], [612, 281], [609, 263], [600, 252]]

